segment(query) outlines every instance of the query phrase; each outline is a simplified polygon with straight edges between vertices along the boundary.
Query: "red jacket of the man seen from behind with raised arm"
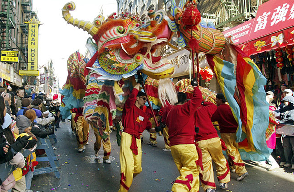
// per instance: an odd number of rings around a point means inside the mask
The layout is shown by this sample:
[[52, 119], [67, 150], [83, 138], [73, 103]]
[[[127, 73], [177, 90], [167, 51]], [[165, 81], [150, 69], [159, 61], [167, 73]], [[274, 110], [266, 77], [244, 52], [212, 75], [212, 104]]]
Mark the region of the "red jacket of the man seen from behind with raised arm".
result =
[[194, 112], [201, 105], [202, 94], [198, 87], [194, 87], [190, 101], [172, 107], [166, 124], [169, 128], [170, 146], [179, 144], [194, 144]]

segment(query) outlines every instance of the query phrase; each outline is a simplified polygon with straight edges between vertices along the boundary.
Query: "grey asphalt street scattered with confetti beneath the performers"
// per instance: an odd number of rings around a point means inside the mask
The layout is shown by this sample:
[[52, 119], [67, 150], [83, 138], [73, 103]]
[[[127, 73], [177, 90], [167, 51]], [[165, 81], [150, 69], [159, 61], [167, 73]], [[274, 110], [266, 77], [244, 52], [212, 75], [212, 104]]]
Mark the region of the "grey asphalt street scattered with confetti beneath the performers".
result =
[[[55, 154], [59, 160], [60, 178], [54, 173], [34, 175], [31, 190], [34, 192], [117, 192], [120, 183], [120, 148], [116, 143], [116, 132], [110, 134], [112, 151], [111, 164], [101, 160], [103, 149], [99, 157], [94, 156], [95, 136], [90, 130], [89, 145], [82, 153], [77, 151], [76, 135], [72, 134], [70, 122], [60, 122], [56, 131], [57, 148]], [[143, 132], [142, 169], [134, 178], [129, 192], [170, 192], [172, 183], [179, 172], [173, 162], [171, 152], [165, 152], [163, 136], [157, 136], [157, 147], [148, 145], [149, 133]], [[249, 176], [243, 181], [236, 181], [237, 175], [231, 173], [228, 189], [219, 189], [215, 176], [217, 191], [219, 192], [294, 192], [294, 170], [278, 168], [267, 171], [266, 167], [259, 167], [245, 162]], [[200, 187], [199, 192], [204, 192]]]

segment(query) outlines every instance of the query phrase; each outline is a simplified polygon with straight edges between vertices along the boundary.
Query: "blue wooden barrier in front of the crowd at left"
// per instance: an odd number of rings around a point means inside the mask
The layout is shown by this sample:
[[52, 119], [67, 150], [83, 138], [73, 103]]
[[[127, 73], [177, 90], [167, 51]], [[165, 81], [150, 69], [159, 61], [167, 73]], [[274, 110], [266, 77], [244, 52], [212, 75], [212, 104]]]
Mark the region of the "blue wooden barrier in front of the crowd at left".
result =
[[[50, 135], [50, 138], [56, 139], [56, 135]], [[34, 171], [34, 175], [39, 175], [39, 174], [44, 174], [44, 173], [50, 173], [54, 172], [56, 178], [60, 178], [60, 172], [58, 171], [59, 163], [57, 160], [57, 157], [54, 153], [54, 150], [52, 148], [52, 144], [50, 142], [49, 137], [46, 137], [45, 139], [39, 139], [40, 144], [36, 149], [44, 149], [46, 153], [46, 157], [37, 157], [36, 160], [38, 162], [49, 162], [48, 167], [42, 167], [42, 168], [37, 168]]]

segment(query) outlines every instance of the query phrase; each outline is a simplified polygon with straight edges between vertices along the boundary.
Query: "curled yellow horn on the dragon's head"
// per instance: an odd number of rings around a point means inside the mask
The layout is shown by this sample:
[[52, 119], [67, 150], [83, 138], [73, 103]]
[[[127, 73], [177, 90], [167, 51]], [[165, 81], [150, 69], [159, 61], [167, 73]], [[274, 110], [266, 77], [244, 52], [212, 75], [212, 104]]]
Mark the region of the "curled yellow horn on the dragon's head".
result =
[[87, 31], [93, 37], [93, 35], [95, 35], [98, 32], [99, 26], [103, 22], [101, 18], [99, 19], [95, 18], [94, 24], [90, 21], [78, 20], [73, 18], [73, 16], [71, 16], [69, 11], [73, 11], [73, 10], [75, 10], [74, 2], [66, 3], [64, 7], [62, 8], [62, 17], [68, 23], [78, 27], [79, 29], [83, 29], [84, 31]]

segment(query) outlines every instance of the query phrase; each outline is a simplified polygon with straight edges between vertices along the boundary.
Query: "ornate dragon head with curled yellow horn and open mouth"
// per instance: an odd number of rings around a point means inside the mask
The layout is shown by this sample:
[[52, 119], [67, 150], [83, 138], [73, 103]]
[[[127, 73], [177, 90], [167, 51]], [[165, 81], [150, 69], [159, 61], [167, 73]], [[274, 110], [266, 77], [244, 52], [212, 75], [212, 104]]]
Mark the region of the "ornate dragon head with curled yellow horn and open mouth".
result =
[[172, 38], [172, 31], [163, 16], [165, 11], [149, 13], [146, 22], [138, 15], [115, 13], [106, 20], [98, 15], [93, 22], [74, 19], [69, 11], [75, 9], [73, 2], [63, 9], [63, 18], [70, 24], [87, 31], [95, 40], [96, 61], [92, 67], [103, 79], [119, 80], [127, 78], [138, 70], [148, 76], [160, 79], [173, 74], [174, 66], [161, 62], [161, 51]]

